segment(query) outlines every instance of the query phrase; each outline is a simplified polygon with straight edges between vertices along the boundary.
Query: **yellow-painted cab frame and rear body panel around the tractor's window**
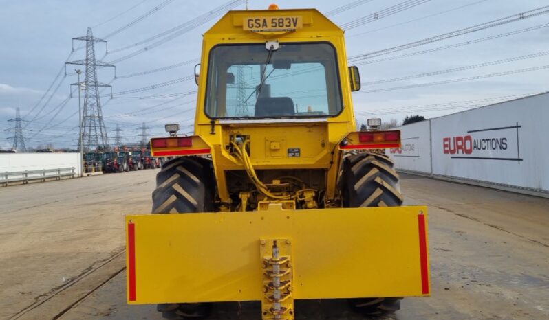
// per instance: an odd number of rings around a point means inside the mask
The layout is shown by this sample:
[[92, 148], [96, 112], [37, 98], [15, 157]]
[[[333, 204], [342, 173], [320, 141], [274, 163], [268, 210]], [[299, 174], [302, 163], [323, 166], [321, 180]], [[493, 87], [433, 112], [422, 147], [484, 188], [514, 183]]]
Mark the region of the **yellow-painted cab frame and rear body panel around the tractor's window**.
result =
[[[291, 32], [250, 32], [244, 30], [243, 22], [248, 17], [301, 16], [302, 27]], [[215, 120], [212, 133], [211, 119], [204, 113], [208, 54], [215, 45], [230, 43], [265, 43], [278, 40], [280, 43], [327, 41], [337, 52], [337, 65], [341, 80], [343, 111], [336, 117], [303, 123], [270, 121], [268, 123], [221, 124]], [[304, 10], [248, 10], [231, 11], [204, 34], [200, 82], [197, 93], [195, 135], [200, 135], [212, 149], [212, 159], [221, 201], [230, 201], [226, 187], [226, 170], [242, 170], [241, 163], [230, 155], [225, 146], [234, 134], [250, 136], [250, 159], [256, 170], [263, 169], [327, 169], [327, 198], [333, 198], [336, 177], [341, 159], [339, 142], [347, 133], [355, 130], [352, 108], [349, 71], [343, 30], [314, 9]], [[227, 121], [229, 122], [229, 121]], [[272, 143], [280, 148], [271, 148]], [[301, 157], [288, 157], [288, 148], [301, 148]], [[332, 155], [334, 152], [334, 155]], [[333, 162], [333, 163], [331, 163]]]

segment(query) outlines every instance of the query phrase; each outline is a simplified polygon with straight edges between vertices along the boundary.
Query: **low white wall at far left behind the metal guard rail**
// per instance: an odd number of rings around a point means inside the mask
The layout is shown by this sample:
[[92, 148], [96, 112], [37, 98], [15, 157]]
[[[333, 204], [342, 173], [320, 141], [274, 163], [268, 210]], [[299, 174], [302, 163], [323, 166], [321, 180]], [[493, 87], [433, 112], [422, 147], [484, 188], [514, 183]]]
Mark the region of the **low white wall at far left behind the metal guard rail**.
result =
[[74, 167], [80, 174], [80, 153], [0, 153], [0, 173]]

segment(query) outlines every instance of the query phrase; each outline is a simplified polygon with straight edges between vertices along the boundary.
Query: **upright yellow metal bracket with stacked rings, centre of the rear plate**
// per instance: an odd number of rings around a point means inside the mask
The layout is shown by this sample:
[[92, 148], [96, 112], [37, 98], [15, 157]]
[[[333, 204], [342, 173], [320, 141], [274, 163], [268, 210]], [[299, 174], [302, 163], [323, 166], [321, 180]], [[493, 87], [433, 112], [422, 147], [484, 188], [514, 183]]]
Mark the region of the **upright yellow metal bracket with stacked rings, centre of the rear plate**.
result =
[[294, 320], [292, 297], [292, 240], [261, 239], [263, 260], [263, 320]]

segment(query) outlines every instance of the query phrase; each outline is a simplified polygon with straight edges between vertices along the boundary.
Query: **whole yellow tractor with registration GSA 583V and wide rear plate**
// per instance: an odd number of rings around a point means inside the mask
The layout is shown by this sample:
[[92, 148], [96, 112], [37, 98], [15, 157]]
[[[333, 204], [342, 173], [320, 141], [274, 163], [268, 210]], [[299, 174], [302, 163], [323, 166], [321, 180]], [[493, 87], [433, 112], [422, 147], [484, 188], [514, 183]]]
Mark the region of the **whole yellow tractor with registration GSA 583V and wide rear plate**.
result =
[[[427, 208], [404, 207], [394, 163], [356, 132], [343, 30], [314, 9], [231, 11], [204, 34], [195, 135], [151, 139], [153, 214], [127, 223], [127, 301], [169, 319], [211, 303], [348, 299], [365, 315], [430, 293]], [[299, 309], [297, 310], [299, 313]]]

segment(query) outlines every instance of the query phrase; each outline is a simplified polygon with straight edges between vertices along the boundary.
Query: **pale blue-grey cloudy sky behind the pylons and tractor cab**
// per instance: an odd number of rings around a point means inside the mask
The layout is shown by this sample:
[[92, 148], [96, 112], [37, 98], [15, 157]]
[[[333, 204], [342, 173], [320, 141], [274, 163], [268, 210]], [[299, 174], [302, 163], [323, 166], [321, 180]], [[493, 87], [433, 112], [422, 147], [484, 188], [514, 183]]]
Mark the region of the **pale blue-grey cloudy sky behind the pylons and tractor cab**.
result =
[[[404, 1], [365, 0], [351, 10], [332, 14], [330, 19], [338, 25], [345, 25], [376, 12], [384, 12], [384, 9]], [[197, 16], [208, 14], [227, 2], [228, 0], [0, 0], [0, 148], [11, 146], [6, 138], [12, 133], [4, 132], [3, 129], [14, 126], [13, 122], [7, 120], [14, 118], [17, 106], [21, 108], [24, 119], [28, 120], [23, 123], [28, 145], [45, 145], [51, 142], [55, 147], [76, 146], [77, 95], [63, 104], [69, 96], [69, 84], [76, 82], [76, 75], [71, 74], [74, 73], [74, 67], [67, 68], [67, 76], [63, 71], [56, 82], [54, 78], [67, 58], [85, 58], [85, 51], [81, 49], [70, 57], [69, 54], [72, 50], [71, 39], [84, 36], [87, 27], [93, 28], [94, 36], [103, 38], [145, 12], [159, 7], [150, 16], [114, 36], [109, 36], [106, 40], [109, 51], [113, 53], [105, 56], [105, 45], [97, 45], [96, 57], [111, 62], [138, 52], [154, 41], [144, 45], [132, 46], [133, 44], [191, 21]], [[249, 8], [267, 8], [271, 2], [273, 1], [250, 0]], [[284, 0], [276, 3], [280, 8], [314, 7], [321, 12], [330, 12], [355, 2], [356, 0]], [[543, 5], [548, 5], [546, 0], [426, 1], [413, 8], [386, 17], [380, 16], [380, 19], [346, 30], [347, 55], [357, 56], [413, 43], [537, 9]], [[244, 4], [237, 6], [237, 9], [244, 8]], [[211, 19], [162, 45], [117, 62], [116, 73], [119, 78], [114, 81], [114, 71], [111, 68], [100, 69], [99, 80], [105, 83], [112, 81], [113, 92], [123, 93], [191, 76], [195, 62], [166, 71], [124, 78], [133, 73], [199, 58], [201, 34], [216, 20]], [[548, 27], [543, 26], [545, 24]], [[525, 29], [524, 32], [515, 32]], [[515, 34], [508, 34], [509, 32]], [[508, 35], [499, 36], [503, 34]], [[477, 41], [487, 37], [492, 38]], [[357, 122], [365, 122], [367, 117], [382, 117], [384, 121], [396, 118], [401, 121], [405, 115], [411, 114], [438, 117], [476, 105], [548, 91], [548, 69], [524, 70], [549, 65], [548, 43], [549, 14], [540, 14], [442, 41], [433, 41], [427, 45], [355, 61], [360, 68], [363, 82], [362, 90], [353, 94]], [[76, 49], [81, 43], [75, 42], [74, 45]], [[117, 49], [125, 47], [127, 49], [117, 52]], [[431, 52], [424, 52], [428, 50]], [[412, 54], [416, 52], [423, 53]], [[487, 65], [486, 62], [494, 63]], [[516, 72], [498, 74], [508, 71]], [[437, 74], [432, 74], [433, 72]], [[416, 76], [422, 73], [427, 75]], [[398, 80], [408, 76], [414, 77]], [[367, 83], [380, 80], [391, 81]], [[52, 83], [52, 90], [47, 91]], [[50, 93], [57, 87], [58, 90], [50, 99]], [[140, 139], [138, 135], [141, 130], [138, 127], [142, 122], [147, 123], [147, 133], [151, 135], [164, 135], [163, 125], [166, 122], [179, 122], [183, 131], [192, 130], [190, 125], [193, 124], [195, 96], [175, 97], [179, 99], [174, 100], [173, 97], [158, 98], [158, 95], [194, 90], [194, 81], [187, 80], [138, 93], [115, 95], [112, 100], [108, 96], [103, 97], [103, 115], [109, 138], [114, 137], [116, 124], [125, 130], [122, 132], [123, 141]], [[39, 104], [46, 92], [48, 95]], [[106, 93], [110, 91], [107, 90], [104, 94]], [[155, 98], [143, 98], [151, 95]], [[162, 103], [164, 105], [154, 107]]]

